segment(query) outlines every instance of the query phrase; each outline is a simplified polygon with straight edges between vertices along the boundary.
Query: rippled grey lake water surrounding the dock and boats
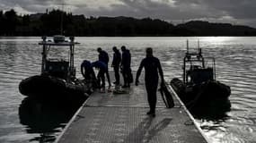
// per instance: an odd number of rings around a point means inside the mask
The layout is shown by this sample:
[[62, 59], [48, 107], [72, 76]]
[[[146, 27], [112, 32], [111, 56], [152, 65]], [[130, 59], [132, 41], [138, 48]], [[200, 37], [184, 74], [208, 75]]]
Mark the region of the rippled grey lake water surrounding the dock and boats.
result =
[[[227, 117], [197, 120], [213, 143], [256, 142], [256, 38], [76, 38], [75, 65], [78, 77], [84, 59], [97, 60], [101, 46], [112, 57], [112, 46], [125, 45], [132, 55], [132, 69], [154, 48], [163, 65], [165, 80], [181, 78], [186, 40], [197, 47], [198, 39], [206, 56], [216, 57], [216, 79], [229, 85], [232, 108]], [[40, 73], [40, 38], [0, 38], [0, 142], [52, 142], [63, 130], [75, 109], [42, 106], [19, 93], [22, 79]], [[54, 51], [64, 55], [64, 49]]]

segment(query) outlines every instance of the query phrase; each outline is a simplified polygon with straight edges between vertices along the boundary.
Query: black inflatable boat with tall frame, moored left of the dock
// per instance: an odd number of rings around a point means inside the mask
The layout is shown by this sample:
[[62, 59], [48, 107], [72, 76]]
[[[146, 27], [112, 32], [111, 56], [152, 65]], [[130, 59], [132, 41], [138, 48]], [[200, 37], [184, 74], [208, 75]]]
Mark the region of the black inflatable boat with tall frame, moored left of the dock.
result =
[[[53, 40], [47, 40], [43, 37], [39, 43], [42, 46], [42, 63], [40, 75], [31, 76], [19, 85], [22, 95], [37, 98], [57, 98], [57, 99], [80, 99], [87, 98], [91, 91], [90, 84], [85, 80], [75, 78], [74, 37], [66, 40], [64, 36], [54, 37]], [[65, 47], [68, 47], [67, 50]], [[55, 58], [49, 58], [49, 52], [55, 48], [68, 53], [68, 59], [63, 59], [55, 55]], [[61, 48], [61, 49], [60, 49]], [[56, 50], [56, 49], [55, 49]], [[64, 54], [61, 53], [61, 56]], [[57, 56], [57, 57], [56, 57]]]

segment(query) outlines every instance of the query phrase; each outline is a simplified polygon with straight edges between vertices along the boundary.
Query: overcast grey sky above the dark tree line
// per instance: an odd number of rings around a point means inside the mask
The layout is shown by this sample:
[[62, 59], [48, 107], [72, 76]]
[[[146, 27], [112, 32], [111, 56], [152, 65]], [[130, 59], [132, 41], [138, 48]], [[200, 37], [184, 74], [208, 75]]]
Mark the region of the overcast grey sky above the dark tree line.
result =
[[172, 23], [202, 20], [256, 28], [256, 0], [0, 0], [1, 10], [44, 13], [59, 8], [88, 16], [151, 17]]

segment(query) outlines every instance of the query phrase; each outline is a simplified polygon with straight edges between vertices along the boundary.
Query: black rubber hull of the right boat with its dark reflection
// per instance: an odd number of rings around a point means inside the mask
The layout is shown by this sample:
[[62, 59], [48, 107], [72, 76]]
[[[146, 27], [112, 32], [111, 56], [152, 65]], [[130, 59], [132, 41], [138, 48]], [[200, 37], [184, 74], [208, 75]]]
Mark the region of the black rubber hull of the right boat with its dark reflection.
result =
[[208, 81], [186, 86], [181, 80], [173, 79], [171, 86], [192, 114], [217, 117], [230, 111], [231, 103], [228, 97], [231, 89], [223, 83]]

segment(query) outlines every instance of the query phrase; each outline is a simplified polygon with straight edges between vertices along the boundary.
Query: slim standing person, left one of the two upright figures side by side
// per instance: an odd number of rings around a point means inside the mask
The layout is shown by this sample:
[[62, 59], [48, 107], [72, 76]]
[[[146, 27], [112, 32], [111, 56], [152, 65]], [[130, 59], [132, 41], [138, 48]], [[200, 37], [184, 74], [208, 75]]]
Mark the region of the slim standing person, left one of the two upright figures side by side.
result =
[[120, 83], [120, 76], [119, 76], [119, 67], [120, 67], [120, 62], [121, 62], [121, 54], [119, 52], [119, 49], [116, 46], [113, 46], [113, 61], [112, 61], [112, 67], [114, 68], [115, 72], [115, 84], [119, 86]]

